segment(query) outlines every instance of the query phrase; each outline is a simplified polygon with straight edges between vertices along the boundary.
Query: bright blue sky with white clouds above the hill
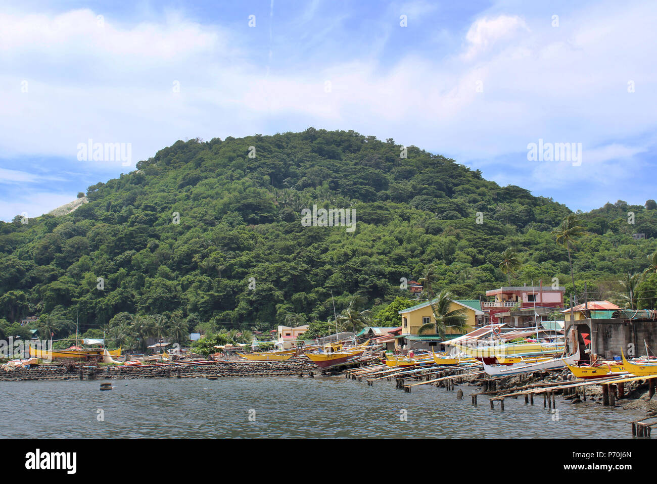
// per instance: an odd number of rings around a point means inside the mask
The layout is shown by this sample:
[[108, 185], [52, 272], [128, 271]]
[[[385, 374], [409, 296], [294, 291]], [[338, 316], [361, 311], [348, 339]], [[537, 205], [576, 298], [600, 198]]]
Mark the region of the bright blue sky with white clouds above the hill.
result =
[[[309, 126], [419, 146], [573, 210], [644, 204], [656, 14], [652, 0], [4, 0], [0, 219], [179, 139]], [[97, 143], [126, 156], [82, 156]]]

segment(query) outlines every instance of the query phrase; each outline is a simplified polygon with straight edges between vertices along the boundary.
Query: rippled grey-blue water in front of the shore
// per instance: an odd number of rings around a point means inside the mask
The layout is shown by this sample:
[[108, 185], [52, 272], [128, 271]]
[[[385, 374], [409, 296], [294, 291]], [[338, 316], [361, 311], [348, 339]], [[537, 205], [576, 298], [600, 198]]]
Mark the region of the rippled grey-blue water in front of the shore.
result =
[[[631, 437], [640, 410], [578, 407], [556, 399], [558, 420], [520, 397], [491, 410], [476, 387], [325, 378], [202, 378], [0, 382], [0, 437]], [[104, 421], [99, 422], [99, 409]], [[407, 415], [407, 420], [401, 417]], [[255, 421], [249, 416], [255, 414]]]

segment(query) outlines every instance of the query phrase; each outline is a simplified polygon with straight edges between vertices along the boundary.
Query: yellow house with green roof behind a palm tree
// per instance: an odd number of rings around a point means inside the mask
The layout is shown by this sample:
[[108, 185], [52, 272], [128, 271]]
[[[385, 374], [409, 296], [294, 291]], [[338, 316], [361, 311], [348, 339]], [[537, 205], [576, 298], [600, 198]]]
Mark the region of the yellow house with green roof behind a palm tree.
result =
[[[466, 332], [474, 330], [484, 317], [484, 311], [482, 311], [480, 302], [476, 299], [453, 299], [449, 304], [449, 311], [455, 311], [456, 309], [463, 309], [464, 316], [467, 319], [466, 324], [468, 325]], [[442, 341], [437, 334], [418, 334], [422, 324], [436, 321], [429, 301], [403, 309], [399, 311], [399, 315], [401, 315], [401, 333], [396, 336], [397, 347], [429, 349], [430, 342]], [[447, 328], [445, 333], [449, 336], [461, 336], [462, 334], [455, 328]]]

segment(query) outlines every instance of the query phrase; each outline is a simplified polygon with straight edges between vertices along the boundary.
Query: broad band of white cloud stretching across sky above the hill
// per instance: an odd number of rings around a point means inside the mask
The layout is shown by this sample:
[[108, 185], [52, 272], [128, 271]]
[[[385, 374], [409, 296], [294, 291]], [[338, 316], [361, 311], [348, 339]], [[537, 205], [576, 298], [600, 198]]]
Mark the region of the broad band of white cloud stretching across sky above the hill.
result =
[[[406, 8], [422, 14], [427, 6]], [[394, 137], [459, 162], [481, 160], [483, 167], [520, 153], [504, 173], [528, 188], [573, 180], [553, 176], [549, 166], [530, 167], [522, 160], [528, 143], [582, 143], [578, 173], [597, 179], [597, 165], [632, 160], [647, 149], [645, 133], [657, 127], [654, 10], [649, 2], [604, 3], [562, 12], [559, 28], [549, 17], [495, 12], [476, 18], [451, 56], [409, 54], [391, 62], [379, 56], [386, 49], [377, 38], [361, 46], [362, 55], [338, 50], [312, 69], [300, 57], [285, 69], [274, 64], [269, 75], [269, 45], [247, 49], [248, 29], [231, 32], [181, 14], [131, 25], [106, 16], [102, 28], [91, 10], [0, 14], [0, 152], [75, 160], [77, 144], [92, 138], [131, 143], [136, 161], [185, 137], [314, 125]], [[327, 22], [338, 29], [345, 16]], [[298, 39], [281, 29], [274, 31], [274, 59], [302, 52], [315, 62], [317, 37], [308, 39], [312, 49], [300, 51]], [[327, 37], [338, 41], [331, 32]], [[379, 37], [387, 39], [386, 31]], [[352, 41], [342, 40], [353, 49]], [[635, 93], [627, 93], [630, 79]], [[22, 80], [28, 93], [21, 92]], [[179, 93], [172, 90], [176, 80]]]

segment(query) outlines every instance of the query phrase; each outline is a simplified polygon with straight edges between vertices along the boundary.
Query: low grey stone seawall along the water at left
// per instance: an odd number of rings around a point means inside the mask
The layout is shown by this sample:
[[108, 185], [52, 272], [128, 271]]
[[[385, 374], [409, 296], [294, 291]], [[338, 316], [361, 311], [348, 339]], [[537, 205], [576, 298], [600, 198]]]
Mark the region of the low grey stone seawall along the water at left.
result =
[[309, 376], [318, 368], [310, 362], [285, 361], [206, 361], [199, 363], [167, 364], [163, 366], [78, 366], [67, 369], [63, 365], [47, 364], [32, 368], [0, 369], [0, 382], [24, 380], [104, 380], [110, 378], [219, 378], [239, 376]]

